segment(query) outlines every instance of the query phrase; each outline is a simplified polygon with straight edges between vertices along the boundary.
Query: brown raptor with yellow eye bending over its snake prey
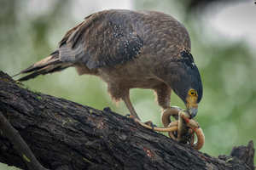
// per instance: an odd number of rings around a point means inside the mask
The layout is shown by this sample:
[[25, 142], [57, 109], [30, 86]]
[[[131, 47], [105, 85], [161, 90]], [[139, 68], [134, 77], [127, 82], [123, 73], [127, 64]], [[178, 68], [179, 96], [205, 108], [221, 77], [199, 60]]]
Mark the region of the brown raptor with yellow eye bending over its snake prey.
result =
[[67, 31], [49, 57], [18, 73], [30, 73], [19, 81], [75, 67], [79, 75], [107, 82], [113, 101], [123, 100], [134, 120], [140, 118], [131, 104], [131, 88], [153, 89], [162, 111], [170, 107], [173, 91], [193, 118], [202, 82], [190, 51], [189, 32], [171, 15], [109, 9]]

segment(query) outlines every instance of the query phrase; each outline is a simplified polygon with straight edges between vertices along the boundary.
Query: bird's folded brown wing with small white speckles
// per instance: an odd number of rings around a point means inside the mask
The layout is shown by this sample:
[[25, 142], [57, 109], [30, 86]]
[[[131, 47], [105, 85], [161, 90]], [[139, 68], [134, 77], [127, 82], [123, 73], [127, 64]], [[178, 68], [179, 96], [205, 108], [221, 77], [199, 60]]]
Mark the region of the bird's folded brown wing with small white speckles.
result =
[[129, 12], [107, 10], [86, 17], [61, 40], [61, 62], [80, 62], [91, 69], [136, 58], [143, 41], [132, 27]]

